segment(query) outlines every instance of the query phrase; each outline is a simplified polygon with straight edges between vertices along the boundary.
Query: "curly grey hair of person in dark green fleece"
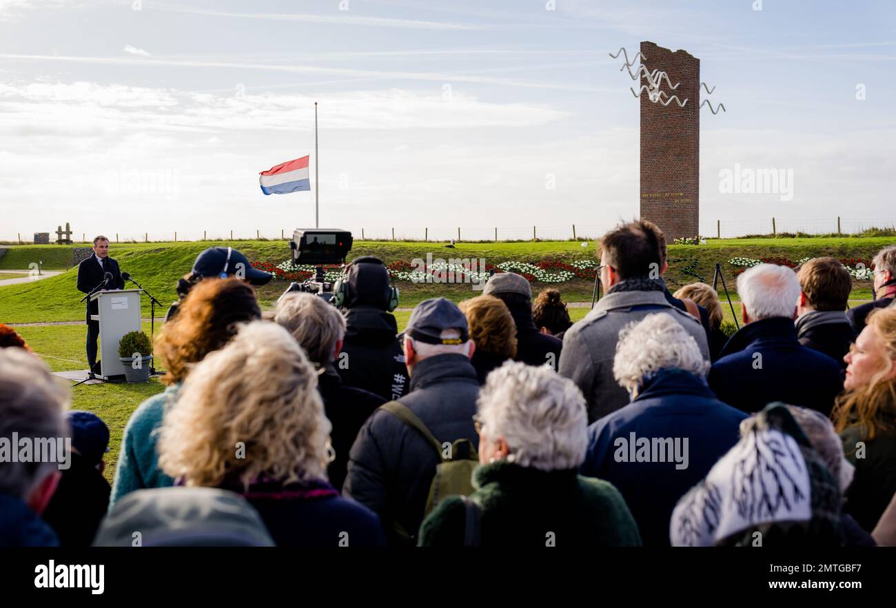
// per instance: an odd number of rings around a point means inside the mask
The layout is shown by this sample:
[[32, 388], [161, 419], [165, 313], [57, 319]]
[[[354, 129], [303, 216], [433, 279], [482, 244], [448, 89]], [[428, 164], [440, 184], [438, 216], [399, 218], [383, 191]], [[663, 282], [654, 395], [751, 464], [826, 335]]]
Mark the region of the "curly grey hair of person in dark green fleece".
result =
[[507, 442], [508, 462], [541, 471], [584, 462], [585, 398], [572, 380], [547, 365], [506, 361], [488, 375], [477, 404], [483, 432]]

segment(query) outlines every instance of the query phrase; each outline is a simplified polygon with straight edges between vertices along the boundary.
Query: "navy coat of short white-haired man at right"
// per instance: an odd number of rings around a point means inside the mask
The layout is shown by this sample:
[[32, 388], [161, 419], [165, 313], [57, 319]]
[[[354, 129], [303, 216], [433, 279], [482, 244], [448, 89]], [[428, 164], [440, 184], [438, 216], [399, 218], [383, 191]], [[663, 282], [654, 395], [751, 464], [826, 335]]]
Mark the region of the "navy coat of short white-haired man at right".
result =
[[725, 344], [707, 380], [721, 401], [746, 413], [780, 401], [827, 416], [843, 389], [840, 364], [800, 344], [787, 317], [743, 326]]

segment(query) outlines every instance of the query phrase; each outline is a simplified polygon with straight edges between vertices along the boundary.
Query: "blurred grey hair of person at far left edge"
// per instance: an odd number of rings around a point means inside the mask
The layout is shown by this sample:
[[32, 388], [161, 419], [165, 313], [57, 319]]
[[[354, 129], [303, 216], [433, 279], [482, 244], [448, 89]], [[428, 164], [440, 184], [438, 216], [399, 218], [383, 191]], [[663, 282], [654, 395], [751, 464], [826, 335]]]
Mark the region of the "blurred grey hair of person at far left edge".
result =
[[[56, 384], [37, 355], [18, 347], [0, 349], [0, 438], [68, 437], [65, 410], [71, 392]], [[28, 499], [55, 462], [0, 463], [0, 493]]]

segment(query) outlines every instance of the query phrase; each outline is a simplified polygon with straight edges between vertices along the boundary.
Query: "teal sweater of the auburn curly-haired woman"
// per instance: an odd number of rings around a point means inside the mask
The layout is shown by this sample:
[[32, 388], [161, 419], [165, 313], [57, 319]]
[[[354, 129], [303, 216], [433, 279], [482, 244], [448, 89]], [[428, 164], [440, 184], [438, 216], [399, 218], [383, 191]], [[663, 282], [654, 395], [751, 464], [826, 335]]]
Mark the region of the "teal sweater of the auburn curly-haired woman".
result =
[[166, 388], [164, 393], [152, 395], [134, 410], [131, 420], [127, 421], [125, 436], [121, 439], [121, 450], [118, 452], [115, 482], [109, 499], [110, 509], [128, 492], [174, 485], [174, 480], [159, 469], [156, 442], [167, 404], [174, 403], [179, 388], [180, 384], [174, 384]]

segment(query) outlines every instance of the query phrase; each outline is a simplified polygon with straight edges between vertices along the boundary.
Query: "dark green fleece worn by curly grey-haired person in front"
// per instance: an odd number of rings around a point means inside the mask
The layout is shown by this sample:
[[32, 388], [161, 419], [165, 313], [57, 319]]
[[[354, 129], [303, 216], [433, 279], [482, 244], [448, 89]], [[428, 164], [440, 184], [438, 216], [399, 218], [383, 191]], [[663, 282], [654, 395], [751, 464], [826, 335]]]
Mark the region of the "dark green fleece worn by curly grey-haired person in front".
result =
[[[499, 461], [480, 465], [473, 486], [484, 547], [641, 546], [622, 494], [576, 469], [546, 472]], [[461, 546], [465, 523], [460, 497], [444, 499], [420, 526], [418, 543]]]

